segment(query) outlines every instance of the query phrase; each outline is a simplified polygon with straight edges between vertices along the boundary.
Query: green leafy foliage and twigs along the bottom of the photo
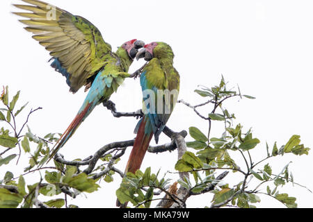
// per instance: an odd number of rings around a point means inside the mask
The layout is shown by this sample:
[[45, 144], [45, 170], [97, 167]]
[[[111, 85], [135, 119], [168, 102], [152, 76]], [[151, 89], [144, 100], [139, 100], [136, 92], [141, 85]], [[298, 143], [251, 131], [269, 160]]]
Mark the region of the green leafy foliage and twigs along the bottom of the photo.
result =
[[[259, 148], [260, 140], [252, 135], [252, 128], [244, 130], [240, 123], [234, 125], [235, 115], [224, 107], [224, 102], [234, 97], [255, 97], [242, 95], [239, 87], [236, 90], [227, 89], [224, 78], [219, 85], [211, 88], [200, 86], [195, 93], [207, 101], [194, 106], [184, 101], [179, 102], [192, 108], [202, 121], [208, 123], [209, 128], [207, 132], [196, 126], [188, 129], [193, 140], [186, 142], [189, 149], [176, 162], [176, 172], [168, 172], [162, 177], [159, 171], [152, 173], [155, 169], [149, 167], [145, 171], [138, 170], [135, 174], [127, 173], [124, 177], [122, 171], [114, 166], [124, 155], [125, 149], [132, 146], [131, 141], [108, 144], [85, 160], [67, 161], [63, 156], [56, 155], [52, 165], [43, 167], [49, 158], [51, 146], [61, 135], [49, 133], [40, 137], [31, 131], [28, 126], [29, 117], [41, 108], [31, 109], [26, 120], [19, 123], [20, 113], [25, 113], [28, 103], [17, 109], [19, 92], [10, 99], [8, 87], [3, 87], [0, 97], [0, 122], [5, 123], [6, 127], [0, 129], [0, 167], [19, 164], [20, 157], [28, 157], [29, 164], [18, 176], [14, 176], [10, 171], [3, 172], [0, 180], [0, 207], [77, 207], [69, 205], [66, 196], [75, 198], [81, 193], [98, 191], [101, 179], [104, 182], [112, 182], [118, 175], [123, 179], [116, 190], [116, 196], [120, 203], [128, 202], [134, 207], [151, 207], [152, 201], [156, 200], [168, 200], [170, 205], [180, 205], [185, 203], [189, 196], [207, 192], [214, 194], [211, 207], [255, 207], [254, 204], [262, 200], [260, 195], [271, 196], [286, 207], [297, 207], [295, 197], [280, 193], [281, 188], [289, 182], [298, 185], [289, 171], [290, 162], [280, 171], [274, 172], [270, 160], [286, 154], [308, 155], [310, 148], [300, 143], [300, 136], [293, 135], [282, 146], [275, 142], [270, 148], [266, 144], [266, 155], [255, 162], [257, 157], [253, 157], [250, 152]], [[206, 115], [197, 110], [207, 107], [212, 108]], [[225, 130], [220, 137], [211, 137], [212, 123], [223, 124]], [[243, 158], [246, 169], [239, 167], [240, 164], [233, 160], [236, 153]], [[84, 166], [86, 167], [81, 169]], [[223, 180], [227, 174], [218, 176], [221, 170], [239, 173], [242, 179], [232, 186], [230, 182]], [[39, 172], [38, 182], [29, 184], [25, 178], [33, 172]], [[180, 176], [177, 181], [172, 177], [175, 173]], [[252, 180], [257, 181], [258, 185], [250, 186]], [[179, 191], [186, 191], [184, 200], [179, 199], [177, 195], [177, 182]], [[105, 184], [102, 187], [105, 187]], [[161, 194], [165, 196], [158, 198]], [[49, 200], [40, 201], [42, 197]]]

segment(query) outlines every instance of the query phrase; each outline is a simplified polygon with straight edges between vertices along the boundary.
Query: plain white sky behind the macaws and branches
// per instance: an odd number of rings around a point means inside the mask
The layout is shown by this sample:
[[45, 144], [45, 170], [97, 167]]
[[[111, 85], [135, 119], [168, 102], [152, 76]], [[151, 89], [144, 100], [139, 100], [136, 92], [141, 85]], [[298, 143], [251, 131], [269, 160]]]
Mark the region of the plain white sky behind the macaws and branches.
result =
[[[83, 90], [70, 94], [65, 78], [51, 69], [49, 53], [24, 31], [11, 3], [0, 1], [1, 23], [1, 78], [0, 85], [8, 85], [11, 96], [22, 90], [18, 105], [29, 101], [28, 108], [44, 108], [30, 119], [33, 133], [63, 133], [79, 110], [86, 94]], [[179, 99], [191, 104], [204, 101], [193, 90], [197, 85], [209, 87], [218, 84], [221, 74], [230, 85], [239, 84], [243, 94], [256, 100], [234, 99], [227, 103], [236, 114], [235, 123], [242, 123], [262, 144], [252, 151], [255, 162], [266, 155], [265, 142], [272, 147], [285, 144], [291, 135], [300, 135], [306, 147], [313, 148], [312, 139], [312, 74], [313, 74], [313, 2], [312, 1], [79, 1], [49, 0], [49, 3], [81, 15], [93, 22], [106, 42], [114, 49], [123, 42], [137, 38], [146, 43], [167, 42], [175, 52], [175, 68], [181, 76]], [[134, 62], [130, 71], [141, 67], [143, 61]], [[11, 97], [12, 98], [12, 97]], [[111, 100], [120, 111], [131, 112], [141, 108], [141, 87], [138, 81], [125, 80], [118, 94]], [[209, 111], [204, 111], [207, 115]], [[20, 117], [19, 123], [24, 120]], [[62, 148], [67, 160], [85, 158], [110, 142], [134, 138], [136, 119], [115, 119], [111, 112], [99, 105], [79, 130]], [[2, 127], [3, 122], [0, 122]], [[221, 123], [220, 123], [221, 124]], [[214, 123], [212, 136], [220, 136]], [[187, 130], [197, 126], [207, 131], [207, 123], [178, 104], [168, 126], [173, 130]], [[188, 137], [188, 140], [191, 140]], [[161, 135], [160, 144], [169, 142]], [[154, 144], [154, 142], [152, 142]], [[122, 157], [118, 168], [124, 170], [129, 151]], [[242, 163], [240, 157], [235, 160]], [[147, 153], [142, 169], [174, 171], [177, 152], [159, 155]], [[289, 170], [295, 182], [313, 189], [313, 156], [285, 155], [272, 160], [273, 172], [280, 172], [290, 160]], [[27, 160], [17, 167], [1, 167], [0, 178], [9, 170], [18, 172]], [[24, 165], [23, 165], [24, 164]], [[266, 162], [264, 162], [266, 164]], [[243, 168], [245, 169], [245, 168]], [[172, 176], [172, 175], [169, 175]], [[38, 174], [26, 177], [26, 182]], [[88, 198], [79, 196], [70, 203], [80, 207], [114, 207], [115, 190], [120, 183], [102, 182], [102, 189]], [[235, 185], [241, 175], [227, 176], [225, 181]], [[251, 185], [253, 182], [251, 182]], [[266, 186], [263, 187], [264, 191]], [[273, 187], [272, 187], [273, 188]], [[296, 196], [298, 207], [312, 207], [312, 194], [302, 187], [287, 185], [282, 189]], [[266, 191], [265, 191], [266, 192]], [[211, 205], [211, 194], [190, 198], [188, 207]], [[277, 200], [260, 196], [259, 207], [284, 207]]]

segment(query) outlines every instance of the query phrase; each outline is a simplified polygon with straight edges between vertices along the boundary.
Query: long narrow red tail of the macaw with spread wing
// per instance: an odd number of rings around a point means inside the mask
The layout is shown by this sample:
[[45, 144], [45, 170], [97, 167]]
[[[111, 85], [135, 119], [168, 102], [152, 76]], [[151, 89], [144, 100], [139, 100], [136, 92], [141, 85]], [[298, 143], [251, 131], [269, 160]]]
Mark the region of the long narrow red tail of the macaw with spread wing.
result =
[[92, 103], [88, 103], [88, 105], [86, 105], [86, 107], [83, 108], [83, 110], [81, 110], [77, 114], [77, 116], [74, 118], [72, 123], [70, 123], [70, 126], [67, 128], [67, 130], [65, 130], [61, 138], [58, 139], [58, 142], [56, 142], [56, 144], [54, 145], [54, 148], [51, 150], [51, 154], [47, 163], [54, 157], [54, 155], [56, 155], [56, 153], [58, 153], [60, 148], [64, 146], [67, 140], [70, 139], [70, 137], [72, 137], [72, 135], [75, 133], [79, 125], [81, 125], [83, 120], [86, 119], [86, 117], [88, 117], [90, 112], [93, 110], [93, 109], [90, 109], [91, 105]]

